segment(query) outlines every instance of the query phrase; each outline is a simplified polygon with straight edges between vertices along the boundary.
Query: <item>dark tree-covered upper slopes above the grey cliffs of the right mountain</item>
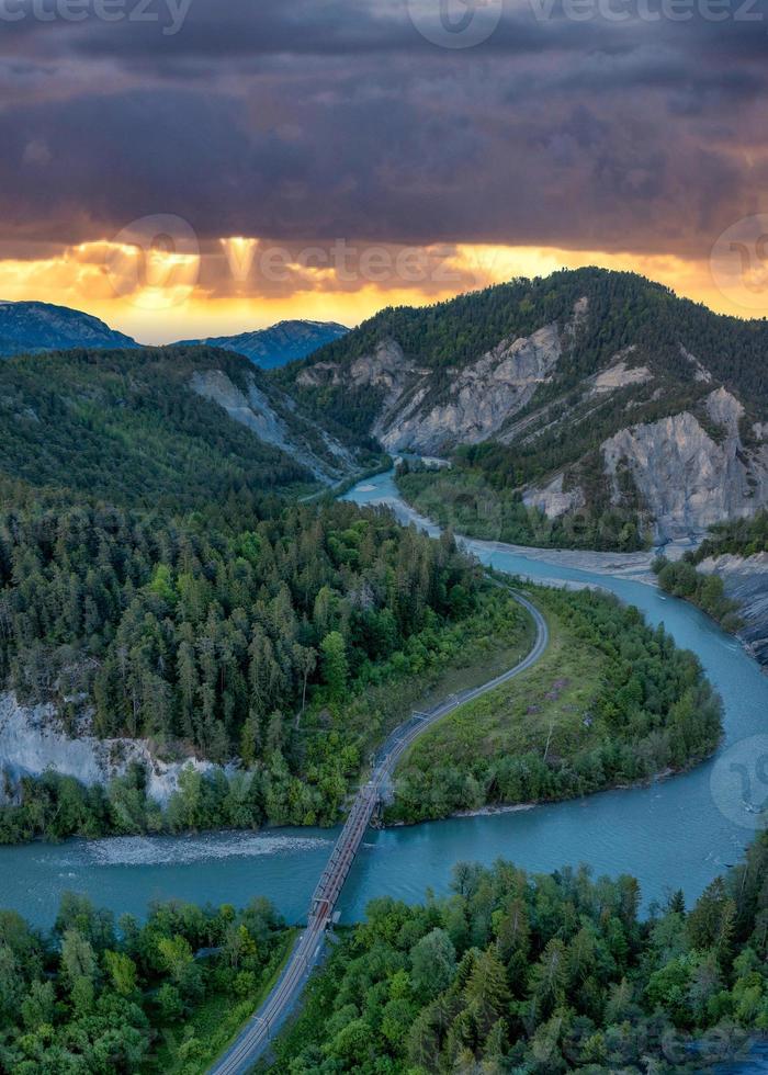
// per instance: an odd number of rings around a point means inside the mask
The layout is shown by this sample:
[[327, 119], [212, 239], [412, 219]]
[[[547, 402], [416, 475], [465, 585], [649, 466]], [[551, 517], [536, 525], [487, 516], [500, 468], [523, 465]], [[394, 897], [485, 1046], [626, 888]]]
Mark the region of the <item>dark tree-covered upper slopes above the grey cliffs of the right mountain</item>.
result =
[[[396, 340], [406, 358], [436, 372], [432, 393], [447, 387], [458, 372], [502, 340], [529, 337], [544, 325], [561, 328], [573, 320], [574, 308], [587, 299], [573, 343], [552, 384], [542, 385], [534, 403], [541, 405], [563, 391], [575, 389], [585, 377], [632, 347], [632, 365], [651, 363], [673, 381], [694, 391], [696, 367], [680, 351], [701, 362], [718, 383], [765, 414], [768, 384], [764, 376], [768, 353], [768, 321], [745, 321], [713, 314], [699, 303], [678, 298], [662, 284], [629, 272], [578, 269], [549, 276], [521, 278], [484, 291], [460, 295], [427, 307], [387, 307], [348, 336], [316, 351], [309, 359], [280, 371], [281, 383], [295, 385], [305, 369], [334, 363], [348, 369], [371, 354], [382, 340]], [[350, 396], [343, 374], [332, 387], [298, 388], [309, 406], [330, 414], [351, 428], [370, 431], [383, 393], [365, 399]], [[699, 383], [699, 392], [701, 383]], [[361, 410], [362, 406], [362, 410]]]

